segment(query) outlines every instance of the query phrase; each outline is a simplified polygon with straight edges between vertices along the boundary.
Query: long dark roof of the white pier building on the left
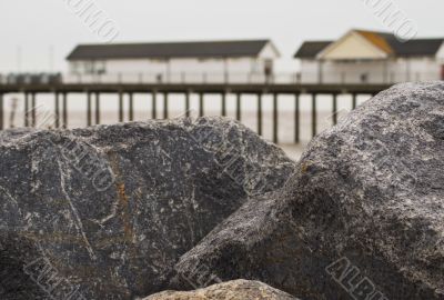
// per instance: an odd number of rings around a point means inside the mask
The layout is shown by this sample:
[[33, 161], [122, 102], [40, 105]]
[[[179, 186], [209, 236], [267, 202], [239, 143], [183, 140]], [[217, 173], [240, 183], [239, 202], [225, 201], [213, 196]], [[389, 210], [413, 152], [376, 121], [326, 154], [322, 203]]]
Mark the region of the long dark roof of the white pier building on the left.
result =
[[80, 44], [68, 60], [256, 57], [270, 40]]

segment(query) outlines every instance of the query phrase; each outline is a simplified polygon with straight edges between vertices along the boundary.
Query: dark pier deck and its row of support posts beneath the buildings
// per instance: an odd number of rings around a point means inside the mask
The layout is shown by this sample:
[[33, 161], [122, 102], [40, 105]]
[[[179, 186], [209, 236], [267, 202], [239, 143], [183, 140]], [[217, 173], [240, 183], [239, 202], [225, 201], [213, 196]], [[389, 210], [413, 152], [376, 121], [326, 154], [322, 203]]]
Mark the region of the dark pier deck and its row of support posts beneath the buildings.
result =
[[[4, 111], [3, 99], [8, 93], [24, 94], [24, 127], [36, 126], [36, 110], [38, 108], [37, 94], [53, 93], [54, 96], [54, 127], [65, 128], [69, 124], [68, 120], [68, 102], [70, 93], [84, 93], [87, 100], [85, 120], [88, 126], [100, 124], [100, 108], [103, 104], [102, 94], [119, 96], [118, 120], [123, 121], [124, 116], [128, 116], [130, 121], [133, 120], [134, 107], [133, 94], [147, 93], [150, 94], [152, 101], [152, 110], [147, 111], [147, 117], [151, 119], [168, 119], [169, 113], [169, 96], [183, 94], [184, 116], [190, 116], [190, 97], [191, 94], [199, 96], [199, 116], [204, 116], [204, 98], [208, 94], [221, 96], [221, 116], [226, 116], [226, 96], [235, 96], [235, 119], [241, 120], [242, 97], [244, 94], [254, 94], [258, 101], [256, 111], [256, 132], [263, 132], [263, 97], [272, 96], [272, 140], [279, 142], [279, 97], [290, 94], [294, 99], [294, 143], [300, 142], [300, 97], [307, 94], [311, 97], [311, 132], [312, 136], [317, 133], [317, 96], [327, 94], [332, 99], [332, 124], [337, 122], [337, 96], [350, 94], [352, 99], [351, 107], [356, 108], [356, 98], [361, 94], [374, 96], [382, 90], [385, 90], [390, 84], [302, 84], [302, 83], [3, 83], [0, 84], [0, 129], [4, 128]], [[158, 109], [158, 96], [162, 94], [163, 111]], [[123, 107], [123, 98], [128, 97], [129, 108]], [[94, 101], [94, 111], [92, 109]], [[289, 120], [285, 120], [289, 121]]]

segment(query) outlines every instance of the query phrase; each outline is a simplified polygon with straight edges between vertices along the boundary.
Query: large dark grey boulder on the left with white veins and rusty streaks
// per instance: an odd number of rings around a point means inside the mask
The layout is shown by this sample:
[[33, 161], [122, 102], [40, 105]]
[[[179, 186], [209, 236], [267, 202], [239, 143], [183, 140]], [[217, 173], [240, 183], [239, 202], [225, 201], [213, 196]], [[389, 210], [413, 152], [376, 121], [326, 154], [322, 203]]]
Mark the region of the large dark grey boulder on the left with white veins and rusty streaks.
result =
[[134, 299], [295, 163], [238, 122], [0, 133], [0, 299]]

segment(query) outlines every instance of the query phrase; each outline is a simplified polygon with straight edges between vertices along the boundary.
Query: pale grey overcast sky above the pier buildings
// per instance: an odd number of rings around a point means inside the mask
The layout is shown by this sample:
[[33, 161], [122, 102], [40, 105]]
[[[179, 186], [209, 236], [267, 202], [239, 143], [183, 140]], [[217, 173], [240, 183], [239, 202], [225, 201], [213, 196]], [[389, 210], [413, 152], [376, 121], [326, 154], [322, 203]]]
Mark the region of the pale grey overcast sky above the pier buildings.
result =
[[[102, 42], [69, 1], [82, 0], [0, 1], [0, 72], [16, 70], [18, 57], [22, 71], [47, 71], [51, 61], [64, 70], [77, 43]], [[289, 58], [303, 40], [335, 39], [351, 28], [392, 30], [365, 3], [372, 0], [83, 1], [117, 24], [118, 42], [271, 38]], [[417, 24], [418, 37], [444, 37], [443, 0], [375, 1], [393, 2]]]

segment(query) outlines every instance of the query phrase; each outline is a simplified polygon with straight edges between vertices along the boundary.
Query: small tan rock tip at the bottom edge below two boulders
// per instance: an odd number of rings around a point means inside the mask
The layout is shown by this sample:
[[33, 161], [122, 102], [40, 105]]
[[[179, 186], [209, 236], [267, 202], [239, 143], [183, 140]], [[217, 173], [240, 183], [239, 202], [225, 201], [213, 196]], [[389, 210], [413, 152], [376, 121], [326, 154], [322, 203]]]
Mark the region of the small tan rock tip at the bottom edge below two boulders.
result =
[[165, 291], [144, 300], [296, 300], [259, 281], [234, 280], [191, 292]]

